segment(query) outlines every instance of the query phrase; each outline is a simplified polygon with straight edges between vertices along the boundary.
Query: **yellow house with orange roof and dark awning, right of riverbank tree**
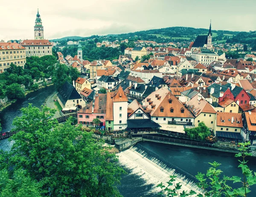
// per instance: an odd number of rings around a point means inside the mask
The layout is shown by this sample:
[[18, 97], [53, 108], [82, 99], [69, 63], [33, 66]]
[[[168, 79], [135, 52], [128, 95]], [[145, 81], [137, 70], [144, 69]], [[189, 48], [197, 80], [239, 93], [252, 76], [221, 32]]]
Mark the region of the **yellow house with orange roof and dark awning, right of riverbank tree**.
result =
[[[236, 138], [241, 137], [241, 128], [243, 127], [242, 115], [238, 113], [227, 113], [227, 112], [217, 112], [216, 115], [216, 125], [215, 133], [218, 136], [218, 140], [225, 141], [225, 138], [230, 138], [226, 141], [233, 141], [232, 137], [236, 141]], [[221, 135], [226, 132], [226, 135]], [[227, 136], [227, 132], [230, 137]], [[240, 137], [239, 137], [240, 136]]]

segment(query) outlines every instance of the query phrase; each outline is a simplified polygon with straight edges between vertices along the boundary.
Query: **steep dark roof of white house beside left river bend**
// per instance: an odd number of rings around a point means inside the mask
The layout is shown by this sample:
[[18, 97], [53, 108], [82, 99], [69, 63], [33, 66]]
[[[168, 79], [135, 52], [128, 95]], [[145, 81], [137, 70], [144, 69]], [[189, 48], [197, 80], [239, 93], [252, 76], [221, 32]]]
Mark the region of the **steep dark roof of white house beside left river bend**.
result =
[[57, 94], [58, 98], [61, 100], [61, 103], [65, 105], [67, 100], [81, 99], [80, 94], [76, 91], [74, 86], [72, 86], [67, 81], [63, 84], [61, 90]]

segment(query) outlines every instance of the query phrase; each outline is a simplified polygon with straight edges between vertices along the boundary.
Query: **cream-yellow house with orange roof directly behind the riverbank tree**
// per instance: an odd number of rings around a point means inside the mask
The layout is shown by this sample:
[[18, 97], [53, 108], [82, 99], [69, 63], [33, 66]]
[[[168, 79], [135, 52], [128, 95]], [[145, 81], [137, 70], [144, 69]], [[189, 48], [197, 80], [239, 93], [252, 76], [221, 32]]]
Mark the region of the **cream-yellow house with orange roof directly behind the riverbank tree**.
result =
[[201, 96], [195, 96], [189, 100], [187, 106], [195, 117], [195, 127], [197, 127], [199, 123], [204, 122], [210, 130], [214, 131], [216, 111], [206, 100], [202, 99]]

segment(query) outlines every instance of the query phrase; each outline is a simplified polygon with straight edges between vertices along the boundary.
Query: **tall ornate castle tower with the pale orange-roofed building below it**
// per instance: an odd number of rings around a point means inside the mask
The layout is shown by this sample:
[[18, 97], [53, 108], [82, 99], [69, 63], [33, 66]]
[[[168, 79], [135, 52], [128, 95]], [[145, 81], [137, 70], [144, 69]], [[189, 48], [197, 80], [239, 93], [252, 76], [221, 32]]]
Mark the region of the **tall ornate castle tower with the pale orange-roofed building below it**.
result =
[[52, 55], [52, 43], [44, 40], [44, 27], [39, 11], [35, 19], [34, 40], [23, 40], [20, 45], [26, 48], [26, 57]]

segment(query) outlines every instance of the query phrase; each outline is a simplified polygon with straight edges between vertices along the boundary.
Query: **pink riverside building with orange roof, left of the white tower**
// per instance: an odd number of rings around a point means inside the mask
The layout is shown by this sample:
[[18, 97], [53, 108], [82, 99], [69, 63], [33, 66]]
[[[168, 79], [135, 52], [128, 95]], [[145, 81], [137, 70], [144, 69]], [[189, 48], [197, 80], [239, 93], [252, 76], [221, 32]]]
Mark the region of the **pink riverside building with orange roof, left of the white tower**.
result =
[[84, 126], [93, 126], [93, 119], [98, 118], [100, 126], [105, 126], [107, 94], [96, 94], [95, 100], [77, 111], [77, 120]]

